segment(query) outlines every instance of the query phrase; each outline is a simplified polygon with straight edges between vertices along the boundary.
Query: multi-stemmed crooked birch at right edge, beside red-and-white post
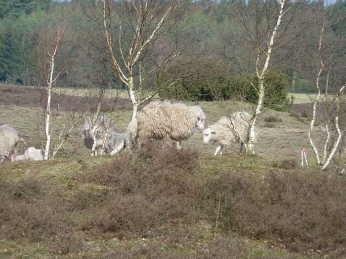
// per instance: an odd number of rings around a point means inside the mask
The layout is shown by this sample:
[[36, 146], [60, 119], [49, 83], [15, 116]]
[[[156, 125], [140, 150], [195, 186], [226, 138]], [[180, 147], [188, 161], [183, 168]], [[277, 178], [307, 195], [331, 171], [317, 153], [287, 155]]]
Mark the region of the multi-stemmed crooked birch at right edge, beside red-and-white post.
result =
[[[339, 145], [342, 142], [343, 129], [341, 117], [343, 113], [341, 103], [346, 86], [346, 70], [344, 58], [340, 58], [342, 46], [346, 43], [343, 33], [333, 31], [332, 25], [336, 24], [340, 17], [332, 7], [318, 4], [315, 10], [315, 98], [312, 98], [312, 117], [310, 120], [308, 138], [310, 146], [316, 157], [316, 165], [325, 170], [331, 163]], [[313, 53], [312, 52], [312, 53]], [[324, 95], [322, 95], [324, 93]], [[313, 137], [316, 121], [325, 133], [323, 140], [323, 154], [316, 145], [316, 137]], [[318, 138], [319, 140], [319, 138]]]

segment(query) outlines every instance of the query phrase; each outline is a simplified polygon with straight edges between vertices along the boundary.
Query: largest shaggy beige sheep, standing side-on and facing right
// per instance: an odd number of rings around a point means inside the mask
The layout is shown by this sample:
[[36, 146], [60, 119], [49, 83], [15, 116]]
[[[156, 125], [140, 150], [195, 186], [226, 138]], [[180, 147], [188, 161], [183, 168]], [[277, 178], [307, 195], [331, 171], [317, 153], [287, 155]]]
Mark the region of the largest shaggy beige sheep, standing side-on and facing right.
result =
[[181, 141], [192, 136], [196, 129], [205, 128], [206, 115], [200, 106], [187, 106], [169, 101], [154, 101], [138, 113], [138, 141], [173, 140], [177, 149]]

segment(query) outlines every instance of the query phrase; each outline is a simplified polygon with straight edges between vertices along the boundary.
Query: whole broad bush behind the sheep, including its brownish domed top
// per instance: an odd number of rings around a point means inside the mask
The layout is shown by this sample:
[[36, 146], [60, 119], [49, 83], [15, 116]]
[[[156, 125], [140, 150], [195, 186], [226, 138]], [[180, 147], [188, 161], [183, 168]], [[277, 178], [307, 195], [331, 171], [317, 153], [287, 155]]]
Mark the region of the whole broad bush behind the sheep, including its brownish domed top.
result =
[[[161, 85], [168, 85], [174, 77], [186, 76], [185, 80], [174, 84], [173, 87], [160, 92], [162, 99], [178, 99], [182, 101], [216, 101], [236, 99], [256, 103], [258, 96], [253, 85], [258, 85], [255, 74], [230, 76], [225, 65], [215, 59], [204, 59], [176, 64], [161, 77]], [[203, 69], [201, 69], [201, 67]], [[203, 72], [203, 74], [201, 74]], [[203, 79], [200, 79], [203, 78]], [[286, 74], [270, 73], [265, 79], [266, 95], [264, 106], [276, 111], [290, 111], [294, 97], [288, 97], [286, 89], [288, 81]]]

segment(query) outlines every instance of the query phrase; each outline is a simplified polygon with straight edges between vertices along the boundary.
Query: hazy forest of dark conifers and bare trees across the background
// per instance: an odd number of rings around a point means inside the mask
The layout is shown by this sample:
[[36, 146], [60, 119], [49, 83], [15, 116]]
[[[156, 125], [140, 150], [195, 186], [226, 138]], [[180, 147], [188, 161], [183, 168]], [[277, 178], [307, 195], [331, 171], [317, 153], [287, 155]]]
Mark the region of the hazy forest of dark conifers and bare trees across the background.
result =
[[[119, 5], [121, 2], [119, 1]], [[165, 1], [159, 3], [164, 5]], [[64, 72], [63, 80], [59, 83], [68, 87], [87, 87], [106, 81], [112, 87], [124, 87], [109, 69], [111, 64], [105, 43], [93, 33], [95, 28], [90, 19], [92, 4], [97, 9], [97, 2], [90, 0], [2, 0], [0, 2], [0, 82], [40, 84], [35, 73], [33, 56], [39, 51], [39, 41], [44, 30], [53, 26], [58, 20], [64, 19], [68, 24], [64, 36], [68, 43], [63, 51], [66, 52], [65, 55], [78, 54], [73, 66]], [[232, 85], [241, 81], [240, 75], [251, 77], [251, 74], [255, 73], [251, 51], [242, 45], [246, 32], [239, 28], [235, 4], [233, 0], [200, 0], [191, 2], [185, 9], [187, 15], [182, 16], [183, 21], [176, 30], [189, 44], [179, 58], [173, 61], [173, 65], [160, 74], [161, 82], [168, 76], [183, 78], [175, 88], [175, 91], [180, 89], [178, 93], [183, 96], [175, 97], [190, 100], [208, 99], [211, 93], [208, 92], [207, 86], [203, 86], [206, 79], [232, 88]], [[251, 4], [251, 1], [244, 2], [244, 5], [247, 4]], [[285, 78], [281, 80], [284, 82], [282, 85], [289, 91], [315, 90], [314, 75], [311, 75], [306, 60], [311, 57], [309, 46], [316, 45], [316, 39], [311, 37], [315, 28], [309, 26], [309, 17], [311, 19], [313, 17], [311, 10], [316, 4], [315, 1], [301, 2], [298, 8], [304, 9], [303, 15], [295, 17], [295, 24], [299, 26], [290, 28], [296, 30], [294, 33], [297, 35], [297, 32], [305, 28], [300, 39], [287, 42], [285, 50], [273, 57], [272, 67], [275, 67], [275, 71], [272, 73], [276, 73], [275, 78]], [[344, 34], [346, 37], [346, 2], [337, 0], [331, 5], [334, 7], [333, 12], [338, 12], [339, 19], [336, 19], [329, 29], [334, 34]], [[297, 10], [297, 13], [299, 11]], [[123, 28], [123, 30], [132, 30], [132, 28]], [[174, 37], [176, 35], [172, 34], [172, 40], [175, 40]], [[346, 59], [346, 46], [339, 51], [339, 54], [338, 58]], [[198, 86], [191, 83], [192, 80], [197, 82], [195, 84]], [[188, 93], [186, 89], [192, 91], [197, 89], [198, 93]], [[198, 96], [203, 91], [207, 91], [205, 98]], [[174, 91], [170, 93], [166, 91], [165, 95], [174, 97]], [[251, 100], [251, 97], [248, 99]]]

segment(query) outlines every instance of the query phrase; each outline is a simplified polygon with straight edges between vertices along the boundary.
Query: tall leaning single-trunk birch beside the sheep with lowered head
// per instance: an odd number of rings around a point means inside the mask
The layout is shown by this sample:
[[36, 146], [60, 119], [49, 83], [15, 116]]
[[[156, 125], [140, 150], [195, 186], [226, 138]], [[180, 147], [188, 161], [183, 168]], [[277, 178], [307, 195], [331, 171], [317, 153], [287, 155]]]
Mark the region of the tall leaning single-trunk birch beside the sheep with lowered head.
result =
[[[255, 129], [257, 119], [263, 113], [263, 101], [266, 93], [265, 79], [267, 75], [277, 67], [273, 66], [273, 56], [279, 56], [282, 48], [289, 42], [298, 37], [307, 25], [302, 24], [299, 30], [290, 31], [295, 22], [295, 18], [303, 14], [303, 9], [298, 8], [299, 1], [275, 0], [275, 1], [254, 1], [248, 4], [237, 4], [238, 24], [241, 25], [243, 31], [243, 41], [237, 41], [254, 58], [253, 71], [255, 71], [258, 83], [251, 85], [255, 89], [258, 99], [254, 107], [254, 115], [250, 122], [247, 141], [244, 144], [247, 154], [255, 152]], [[229, 40], [231, 42], [234, 40]], [[235, 57], [235, 63], [240, 64], [242, 69], [245, 68], [239, 57]], [[288, 60], [285, 60], [288, 62]], [[270, 68], [270, 66], [272, 68]]]

